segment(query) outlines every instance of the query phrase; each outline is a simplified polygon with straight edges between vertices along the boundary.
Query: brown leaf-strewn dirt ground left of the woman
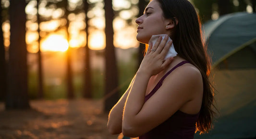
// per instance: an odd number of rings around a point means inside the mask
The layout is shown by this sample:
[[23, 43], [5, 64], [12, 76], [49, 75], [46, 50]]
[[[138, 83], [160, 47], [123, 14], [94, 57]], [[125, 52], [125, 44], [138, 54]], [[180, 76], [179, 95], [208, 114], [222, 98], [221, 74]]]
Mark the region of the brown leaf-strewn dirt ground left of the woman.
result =
[[117, 139], [107, 131], [102, 100], [31, 100], [29, 110], [4, 110], [0, 139]]

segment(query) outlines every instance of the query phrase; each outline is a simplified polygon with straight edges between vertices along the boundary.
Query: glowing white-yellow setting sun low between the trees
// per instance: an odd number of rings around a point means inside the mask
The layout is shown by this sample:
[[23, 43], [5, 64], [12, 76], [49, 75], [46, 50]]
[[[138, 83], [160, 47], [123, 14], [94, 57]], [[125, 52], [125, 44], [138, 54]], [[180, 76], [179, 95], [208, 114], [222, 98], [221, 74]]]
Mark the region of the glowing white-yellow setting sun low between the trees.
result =
[[50, 35], [42, 43], [41, 49], [43, 51], [61, 51], [68, 50], [68, 41], [61, 35], [54, 34]]

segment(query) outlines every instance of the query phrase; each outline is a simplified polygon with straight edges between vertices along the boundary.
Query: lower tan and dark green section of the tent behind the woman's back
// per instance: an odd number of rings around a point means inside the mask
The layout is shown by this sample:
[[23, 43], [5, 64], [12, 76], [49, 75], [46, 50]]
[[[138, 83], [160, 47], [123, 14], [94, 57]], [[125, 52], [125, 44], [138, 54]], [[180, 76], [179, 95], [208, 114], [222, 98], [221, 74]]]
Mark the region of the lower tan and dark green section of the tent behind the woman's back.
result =
[[256, 138], [256, 69], [214, 69], [216, 106], [214, 128], [195, 139]]

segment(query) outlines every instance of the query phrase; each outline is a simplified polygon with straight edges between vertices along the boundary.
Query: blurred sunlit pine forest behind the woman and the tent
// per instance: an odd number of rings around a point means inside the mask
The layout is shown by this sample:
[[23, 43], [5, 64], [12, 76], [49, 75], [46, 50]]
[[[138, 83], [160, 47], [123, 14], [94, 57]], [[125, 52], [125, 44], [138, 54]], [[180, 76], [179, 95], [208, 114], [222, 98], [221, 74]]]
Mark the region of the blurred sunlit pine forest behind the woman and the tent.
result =
[[[203, 23], [256, 9], [255, 0], [190, 1]], [[145, 45], [135, 39], [135, 19], [147, 3], [1, 0], [1, 110], [29, 109], [34, 100], [85, 98], [102, 101], [108, 113], [143, 59]]]

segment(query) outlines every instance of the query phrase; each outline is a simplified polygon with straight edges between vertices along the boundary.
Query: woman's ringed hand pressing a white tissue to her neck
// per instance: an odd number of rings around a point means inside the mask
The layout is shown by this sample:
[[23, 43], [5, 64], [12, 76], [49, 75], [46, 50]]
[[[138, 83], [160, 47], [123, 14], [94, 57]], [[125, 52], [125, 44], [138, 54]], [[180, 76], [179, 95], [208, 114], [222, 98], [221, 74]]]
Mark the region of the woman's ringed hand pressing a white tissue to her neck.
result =
[[142, 63], [140, 64], [138, 72], [143, 72], [150, 76], [157, 75], [159, 72], [165, 69], [169, 64], [171, 64], [173, 57], [168, 58], [166, 60], [164, 60], [164, 58], [171, 47], [172, 41], [169, 41], [168, 43], [166, 43], [168, 40], [168, 35], [165, 36], [162, 42], [161, 40], [162, 40], [162, 37], [159, 36], [154, 46], [152, 46], [152, 43], [149, 42], [146, 55]]

